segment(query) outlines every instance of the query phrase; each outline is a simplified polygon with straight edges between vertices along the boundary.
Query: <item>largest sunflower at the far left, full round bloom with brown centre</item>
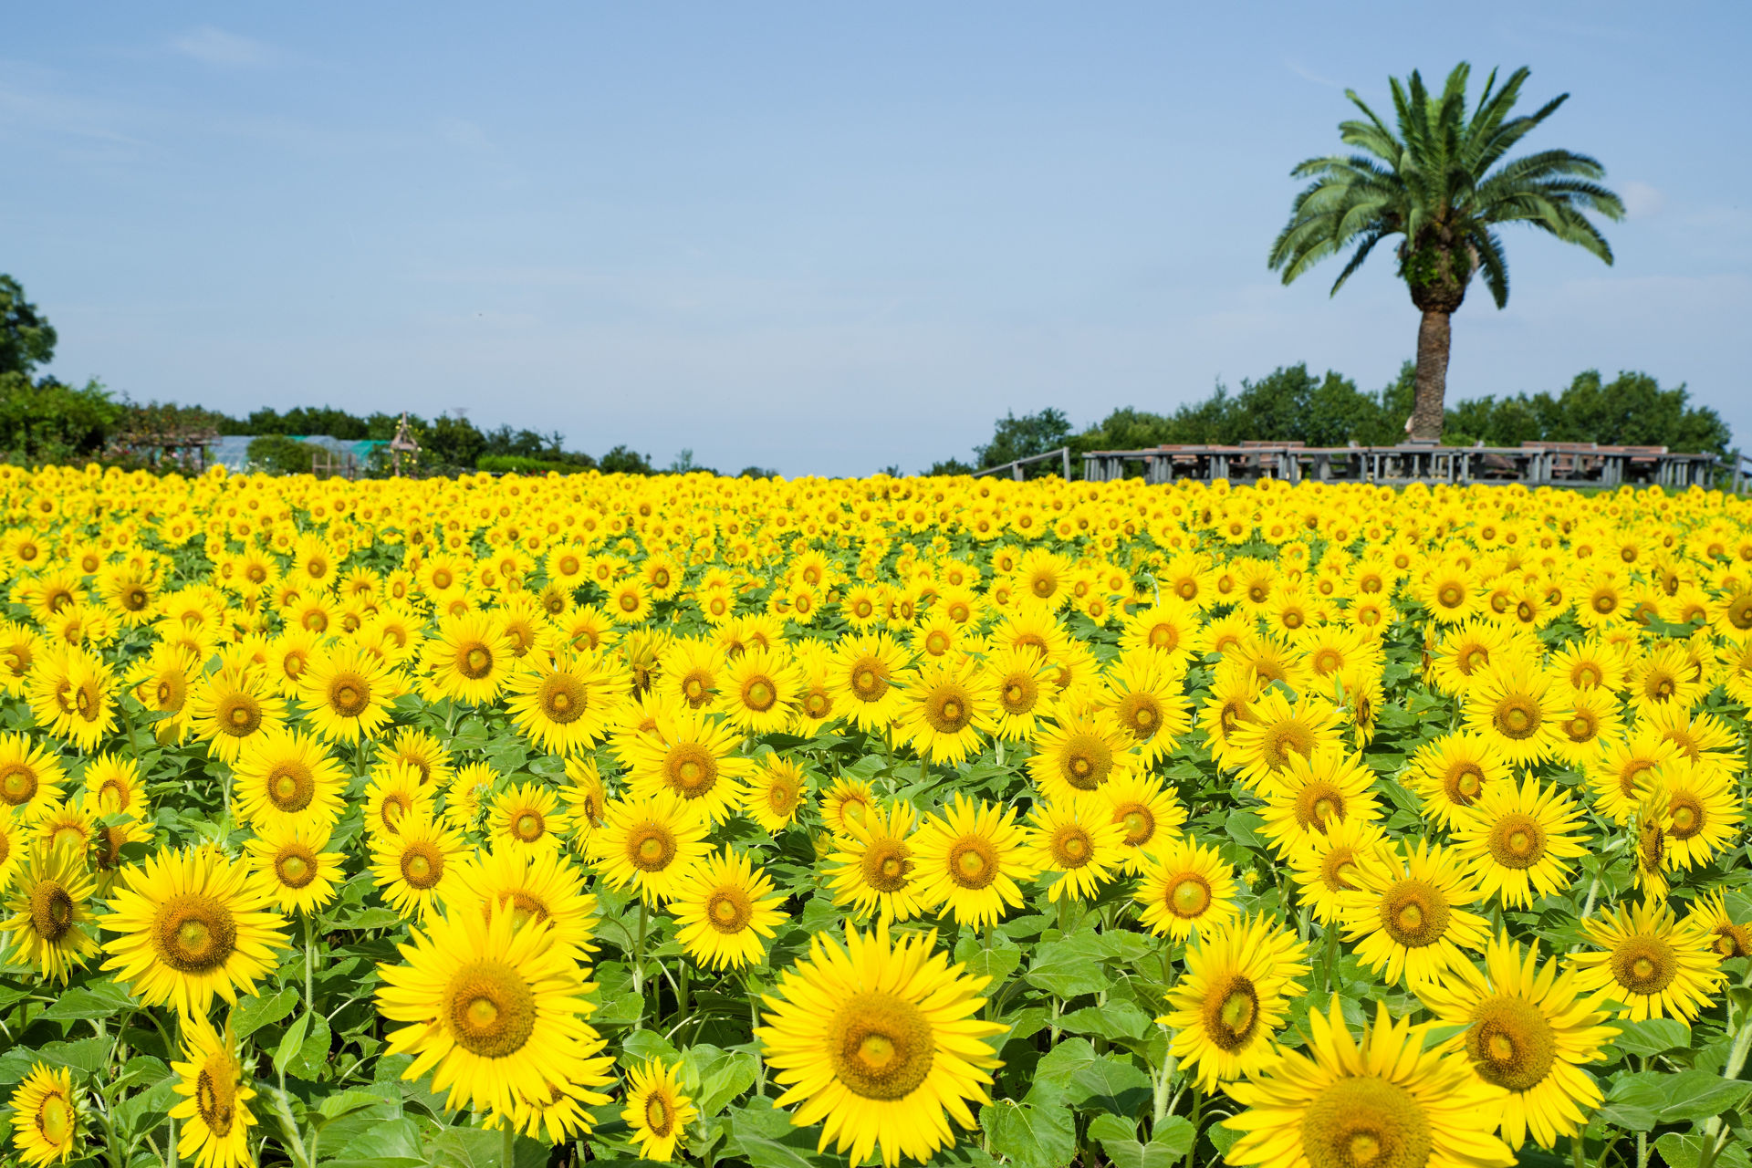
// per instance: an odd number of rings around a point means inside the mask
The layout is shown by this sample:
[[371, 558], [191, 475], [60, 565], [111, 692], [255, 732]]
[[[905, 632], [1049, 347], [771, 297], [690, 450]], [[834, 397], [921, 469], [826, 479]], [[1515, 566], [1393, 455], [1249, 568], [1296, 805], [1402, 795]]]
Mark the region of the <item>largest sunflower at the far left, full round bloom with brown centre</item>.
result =
[[159, 851], [121, 874], [114, 909], [98, 919], [119, 933], [103, 947], [105, 970], [128, 982], [145, 1005], [175, 1005], [184, 1016], [207, 1014], [217, 993], [237, 1002], [273, 972], [286, 947], [286, 918], [240, 860], [210, 848]]

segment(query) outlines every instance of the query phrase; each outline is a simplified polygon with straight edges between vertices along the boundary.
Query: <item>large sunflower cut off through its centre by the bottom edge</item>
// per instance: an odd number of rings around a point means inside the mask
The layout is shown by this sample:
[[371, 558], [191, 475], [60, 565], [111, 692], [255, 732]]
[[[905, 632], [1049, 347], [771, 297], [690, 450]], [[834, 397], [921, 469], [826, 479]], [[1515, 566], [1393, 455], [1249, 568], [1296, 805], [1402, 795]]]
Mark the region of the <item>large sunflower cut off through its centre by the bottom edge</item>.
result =
[[1384, 1002], [1361, 1038], [1337, 996], [1310, 1010], [1309, 1042], [1228, 1094], [1246, 1110], [1223, 1121], [1240, 1138], [1230, 1164], [1318, 1168], [1508, 1168], [1514, 1154], [1493, 1133], [1503, 1091], [1465, 1058], [1426, 1047], [1428, 1028], [1393, 1021]]

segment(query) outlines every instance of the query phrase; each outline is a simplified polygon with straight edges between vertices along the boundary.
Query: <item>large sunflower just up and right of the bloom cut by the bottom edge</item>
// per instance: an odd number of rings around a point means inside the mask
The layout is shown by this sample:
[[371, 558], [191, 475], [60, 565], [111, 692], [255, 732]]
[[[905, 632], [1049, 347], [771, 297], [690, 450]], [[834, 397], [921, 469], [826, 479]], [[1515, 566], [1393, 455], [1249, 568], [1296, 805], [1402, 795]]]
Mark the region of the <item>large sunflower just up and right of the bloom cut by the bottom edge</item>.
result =
[[1465, 1026], [1458, 1037], [1472, 1073], [1508, 1091], [1503, 1140], [1519, 1149], [1533, 1142], [1551, 1149], [1558, 1136], [1577, 1138], [1589, 1112], [1603, 1101], [1582, 1070], [1607, 1058], [1617, 1037], [1600, 1009], [1600, 995], [1577, 989], [1573, 972], [1558, 960], [1540, 965], [1538, 944], [1521, 946], [1498, 935], [1484, 951], [1484, 970], [1463, 963], [1449, 975], [1417, 986], [1417, 996], [1440, 1026]]

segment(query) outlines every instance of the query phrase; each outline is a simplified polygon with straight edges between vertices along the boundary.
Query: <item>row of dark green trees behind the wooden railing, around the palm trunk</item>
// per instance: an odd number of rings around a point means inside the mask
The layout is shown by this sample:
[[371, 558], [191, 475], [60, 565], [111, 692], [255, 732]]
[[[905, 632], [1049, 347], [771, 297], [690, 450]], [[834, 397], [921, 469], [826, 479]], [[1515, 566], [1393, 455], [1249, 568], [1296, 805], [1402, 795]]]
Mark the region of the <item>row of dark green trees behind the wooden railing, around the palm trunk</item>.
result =
[[[974, 447], [972, 461], [946, 459], [930, 475], [965, 475], [1016, 459], [1070, 447], [1088, 450], [1141, 450], [1160, 445], [1233, 445], [1242, 440], [1300, 441], [1309, 447], [1388, 447], [1405, 440], [1405, 419], [1417, 396], [1416, 364], [1379, 392], [1328, 369], [1307, 364], [1274, 369], [1260, 380], [1242, 380], [1230, 392], [1221, 382], [1204, 401], [1170, 413], [1125, 406], [1100, 422], [1076, 429], [1063, 410], [1007, 413], [992, 440]], [[1663, 389], [1647, 373], [1619, 373], [1607, 382], [1598, 369], [1575, 375], [1552, 394], [1487, 396], [1445, 410], [1442, 441], [1470, 447], [1519, 447], [1524, 441], [1596, 441], [1612, 447], [1666, 447], [1668, 450], [1727, 454], [1733, 433], [1708, 406], [1694, 406], [1685, 385]]]

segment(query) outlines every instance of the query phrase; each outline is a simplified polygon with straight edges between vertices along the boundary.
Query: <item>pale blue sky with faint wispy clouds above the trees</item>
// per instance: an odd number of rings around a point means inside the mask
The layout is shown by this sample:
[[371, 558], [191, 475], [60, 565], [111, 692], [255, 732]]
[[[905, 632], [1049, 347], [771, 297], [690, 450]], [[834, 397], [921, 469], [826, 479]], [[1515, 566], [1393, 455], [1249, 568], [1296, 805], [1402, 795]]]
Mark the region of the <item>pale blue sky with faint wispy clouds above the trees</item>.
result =
[[1006, 410], [1391, 380], [1391, 261], [1330, 299], [1265, 254], [1346, 86], [1465, 58], [1572, 93], [1528, 145], [1631, 215], [1612, 268], [1510, 229], [1451, 399], [1647, 369], [1752, 445], [1748, 49], [1745, 4], [30, 5], [0, 271], [140, 401], [911, 471]]

